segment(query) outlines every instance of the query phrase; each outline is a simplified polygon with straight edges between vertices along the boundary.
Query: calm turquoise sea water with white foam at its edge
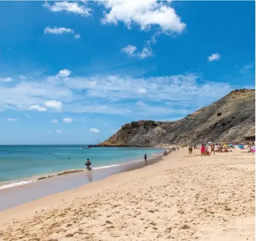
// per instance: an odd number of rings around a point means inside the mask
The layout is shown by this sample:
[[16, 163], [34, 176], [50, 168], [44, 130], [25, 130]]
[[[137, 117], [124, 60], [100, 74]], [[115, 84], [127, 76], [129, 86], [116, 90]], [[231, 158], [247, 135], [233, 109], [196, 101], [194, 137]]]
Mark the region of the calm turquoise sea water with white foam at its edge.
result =
[[66, 171], [84, 170], [87, 158], [96, 170], [143, 160], [145, 153], [150, 158], [157, 152], [162, 152], [155, 148], [82, 147], [85, 146], [0, 146], [0, 189]]

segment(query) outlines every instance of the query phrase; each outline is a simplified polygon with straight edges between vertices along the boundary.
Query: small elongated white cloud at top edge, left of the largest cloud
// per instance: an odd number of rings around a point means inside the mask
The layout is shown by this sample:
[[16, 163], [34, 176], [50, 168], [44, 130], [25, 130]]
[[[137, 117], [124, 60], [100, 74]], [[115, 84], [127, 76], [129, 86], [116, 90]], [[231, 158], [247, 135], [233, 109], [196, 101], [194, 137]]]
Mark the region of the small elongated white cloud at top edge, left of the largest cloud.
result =
[[80, 3], [69, 3], [67, 1], [56, 1], [52, 5], [49, 3], [45, 3], [43, 5], [44, 7], [47, 7], [48, 10], [52, 12], [67, 12], [71, 14], [79, 14], [80, 16], [90, 16], [91, 15], [91, 8], [86, 7], [86, 5], [80, 4]]

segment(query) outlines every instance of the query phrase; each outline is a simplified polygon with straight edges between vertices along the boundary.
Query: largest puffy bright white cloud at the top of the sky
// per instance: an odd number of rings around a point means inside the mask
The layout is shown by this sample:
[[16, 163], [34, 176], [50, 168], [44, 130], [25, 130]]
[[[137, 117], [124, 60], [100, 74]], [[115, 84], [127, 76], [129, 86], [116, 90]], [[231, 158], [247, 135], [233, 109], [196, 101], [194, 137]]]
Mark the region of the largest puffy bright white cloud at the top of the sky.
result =
[[142, 30], [150, 27], [158, 27], [164, 33], [180, 33], [186, 25], [181, 22], [174, 8], [170, 6], [170, 1], [123, 1], [108, 0], [102, 4], [106, 7], [103, 12], [103, 24], [114, 24], [124, 22], [131, 29], [131, 25], [139, 25]]

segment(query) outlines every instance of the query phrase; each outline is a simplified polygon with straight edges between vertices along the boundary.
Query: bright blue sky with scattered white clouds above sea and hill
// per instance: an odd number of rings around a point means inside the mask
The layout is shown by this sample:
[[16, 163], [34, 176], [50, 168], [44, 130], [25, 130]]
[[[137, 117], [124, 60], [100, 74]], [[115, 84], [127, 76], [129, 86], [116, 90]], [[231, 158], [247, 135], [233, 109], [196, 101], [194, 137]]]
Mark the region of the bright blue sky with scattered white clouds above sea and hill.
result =
[[254, 1], [0, 1], [0, 144], [96, 144], [255, 89]]

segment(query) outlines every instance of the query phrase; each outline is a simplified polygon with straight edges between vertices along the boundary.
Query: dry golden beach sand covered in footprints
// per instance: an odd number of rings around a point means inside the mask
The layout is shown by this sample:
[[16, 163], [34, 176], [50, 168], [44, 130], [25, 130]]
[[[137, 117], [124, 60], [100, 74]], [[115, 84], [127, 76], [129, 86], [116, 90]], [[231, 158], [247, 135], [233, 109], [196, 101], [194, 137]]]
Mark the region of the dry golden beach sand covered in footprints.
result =
[[255, 240], [255, 155], [181, 148], [0, 213], [0, 240]]

